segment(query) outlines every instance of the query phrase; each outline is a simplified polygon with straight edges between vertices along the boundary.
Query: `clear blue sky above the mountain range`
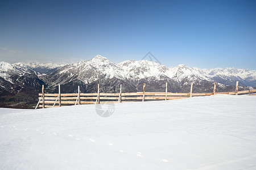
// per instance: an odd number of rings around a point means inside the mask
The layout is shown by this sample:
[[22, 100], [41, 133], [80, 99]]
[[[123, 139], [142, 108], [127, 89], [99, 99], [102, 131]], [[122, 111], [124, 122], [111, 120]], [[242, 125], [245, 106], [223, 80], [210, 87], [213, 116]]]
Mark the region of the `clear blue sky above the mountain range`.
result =
[[1, 1], [0, 60], [256, 70], [256, 1]]

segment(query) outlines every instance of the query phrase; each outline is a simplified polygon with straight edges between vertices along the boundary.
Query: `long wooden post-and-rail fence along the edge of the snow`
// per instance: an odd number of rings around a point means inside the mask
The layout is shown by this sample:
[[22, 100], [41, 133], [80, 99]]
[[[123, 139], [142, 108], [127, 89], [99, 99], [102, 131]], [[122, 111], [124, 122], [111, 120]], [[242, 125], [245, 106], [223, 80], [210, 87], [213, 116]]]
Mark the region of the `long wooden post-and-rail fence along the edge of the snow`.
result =
[[216, 94], [228, 94], [228, 95], [238, 95], [238, 94], [250, 94], [255, 93], [256, 90], [245, 90], [238, 91], [238, 82], [236, 83], [236, 91], [234, 92], [216, 92], [216, 85], [214, 83], [212, 93], [192, 93], [193, 83], [191, 83], [191, 90], [188, 93], [172, 93], [165, 92], [146, 92], [146, 84], [143, 84], [142, 92], [129, 92], [122, 93], [122, 84], [120, 85], [119, 93], [100, 93], [100, 86], [98, 84], [98, 92], [91, 94], [84, 94], [80, 92], [80, 87], [78, 86], [77, 94], [61, 94], [60, 84], [58, 94], [45, 94], [44, 86], [42, 87], [42, 94], [39, 94], [39, 101], [36, 105], [39, 108], [49, 108], [49, 107], [61, 107], [64, 105], [80, 105], [80, 104], [100, 104], [100, 103], [124, 103], [124, 102], [134, 102], [134, 101], [150, 101], [150, 100], [171, 100], [171, 99], [183, 99], [192, 96], [210, 96]]

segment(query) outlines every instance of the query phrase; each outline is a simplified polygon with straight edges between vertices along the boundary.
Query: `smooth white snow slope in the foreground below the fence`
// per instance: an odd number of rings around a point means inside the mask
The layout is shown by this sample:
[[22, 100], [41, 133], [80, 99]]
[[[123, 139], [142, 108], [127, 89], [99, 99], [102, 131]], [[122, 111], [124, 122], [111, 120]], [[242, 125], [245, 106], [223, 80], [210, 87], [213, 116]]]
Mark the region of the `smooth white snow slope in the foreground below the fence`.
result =
[[[256, 169], [256, 96], [0, 108], [0, 169]], [[103, 107], [103, 106], [102, 106]]]

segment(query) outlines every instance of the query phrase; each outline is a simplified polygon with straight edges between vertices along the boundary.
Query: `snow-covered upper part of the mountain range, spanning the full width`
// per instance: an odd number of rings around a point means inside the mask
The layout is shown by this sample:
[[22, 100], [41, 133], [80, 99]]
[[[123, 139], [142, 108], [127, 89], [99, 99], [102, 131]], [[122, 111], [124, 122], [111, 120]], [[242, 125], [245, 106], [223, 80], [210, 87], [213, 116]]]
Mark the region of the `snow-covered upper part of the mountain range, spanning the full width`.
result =
[[[183, 79], [191, 81], [201, 79], [207, 81], [215, 81], [217, 78], [224, 80], [246, 80], [246, 82], [256, 81], [256, 70], [237, 69], [235, 67], [227, 67], [225, 69], [199, 69], [197, 67], [187, 67], [185, 65], [177, 65], [176, 67], [166, 67], [155, 61], [148, 60], [128, 60], [115, 64], [109, 61], [108, 58], [97, 55], [90, 60], [80, 61], [75, 64], [56, 64], [56, 63], [14, 63], [10, 65], [6, 62], [1, 62], [0, 76], [7, 78], [9, 71], [20, 74], [35, 70], [41, 73], [42, 70], [58, 69], [55, 75], [65, 75], [68, 77], [77, 76], [84, 83], [91, 83], [102, 76], [105, 78], [118, 78], [122, 80], [138, 81], [150, 76], [164, 74], [177, 82]], [[18, 71], [17, 71], [18, 70]], [[41, 70], [41, 71], [40, 71]], [[44, 71], [46, 73], [46, 71]], [[39, 74], [40, 75], [40, 74]], [[65, 82], [65, 80], [61, 80]], [[55, 82], [56, 83], [56, 82]], [[221, 82], [224, 83], [224, 82]], [[225, 83], [224, 83], [225, 84]], [[255, 84], [256, 86], [256, 84]]]

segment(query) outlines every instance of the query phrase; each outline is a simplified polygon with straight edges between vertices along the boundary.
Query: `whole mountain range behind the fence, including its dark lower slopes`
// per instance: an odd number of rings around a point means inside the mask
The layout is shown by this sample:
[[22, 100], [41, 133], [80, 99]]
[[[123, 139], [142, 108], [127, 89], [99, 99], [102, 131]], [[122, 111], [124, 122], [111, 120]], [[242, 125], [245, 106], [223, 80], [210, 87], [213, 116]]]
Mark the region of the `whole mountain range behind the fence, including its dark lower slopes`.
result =
[[240, 88], [255, 87], [256, 71], [166, 67], [148, 60], [113, 63], [100, 55], [73, 64], [0, 62], [0, 97], [31, 91], [37, 95], [42, 84], [48, 92], [57, 92], [59, 83], [61, 92], [76, 92], [77, 85], [82, 92], [95, 92], [97, 83], [104, 92], [118, 92], [120, 84], [124, 92], [141, 91], [143, 83], [147, 84], [147, 91], [164, 91], [166, 82], [171, 92], [187, 92], [191, 82], [193, 92], [210, 92], [213, 82], [218, 82], [217, 91], [233, 91], [237, 80], [240, 86], [247, 86]]

